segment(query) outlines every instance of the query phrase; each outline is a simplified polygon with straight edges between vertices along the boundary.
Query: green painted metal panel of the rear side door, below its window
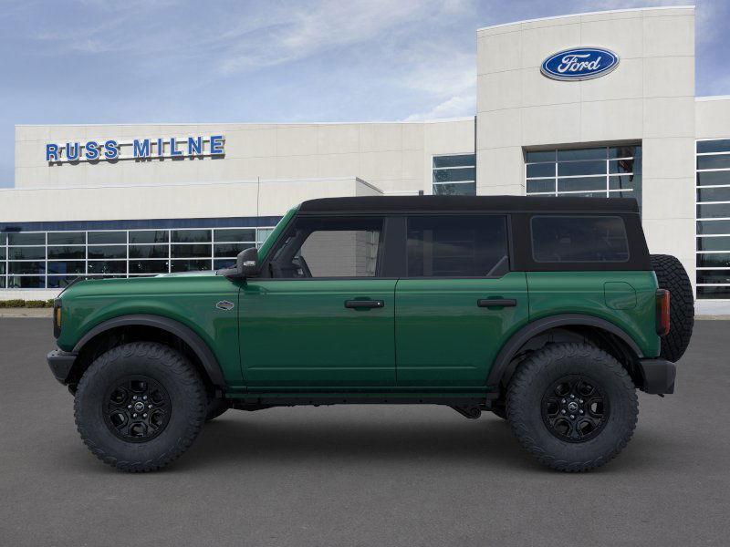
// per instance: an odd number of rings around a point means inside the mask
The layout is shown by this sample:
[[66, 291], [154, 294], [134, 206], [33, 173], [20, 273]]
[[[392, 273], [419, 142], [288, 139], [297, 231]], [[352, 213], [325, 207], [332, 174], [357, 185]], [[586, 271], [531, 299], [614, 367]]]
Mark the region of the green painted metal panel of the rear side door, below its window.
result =
[[[495, 298], [515, 305], [478, 305]], [[401, 279], [395, 308], [399, 386], [484, 386], [502, 340], [527, 323], [526, 276]]]

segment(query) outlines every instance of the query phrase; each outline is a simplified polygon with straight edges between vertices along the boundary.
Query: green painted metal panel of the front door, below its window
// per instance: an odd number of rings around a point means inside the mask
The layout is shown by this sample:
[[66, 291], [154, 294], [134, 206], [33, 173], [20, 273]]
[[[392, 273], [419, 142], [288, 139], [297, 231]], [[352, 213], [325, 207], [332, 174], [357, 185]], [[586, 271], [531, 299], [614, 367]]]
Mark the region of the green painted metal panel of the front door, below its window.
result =
[[[394, 279], [251, 279], [240, 295], [247, 386], [395, 384]], [[346, 303], [376, 301], [379, 307]]]

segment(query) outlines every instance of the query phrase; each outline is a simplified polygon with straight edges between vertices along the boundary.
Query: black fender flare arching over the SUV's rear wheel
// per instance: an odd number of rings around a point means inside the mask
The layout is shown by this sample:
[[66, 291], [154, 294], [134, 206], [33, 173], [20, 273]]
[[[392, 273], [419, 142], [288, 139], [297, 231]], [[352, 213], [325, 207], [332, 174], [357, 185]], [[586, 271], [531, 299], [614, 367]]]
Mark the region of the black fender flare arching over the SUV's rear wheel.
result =
[[582, 314], [563, 314], [563, 315], [552, 315], [550, 317], [543, 317], [528, 323], [519, 329], [514, 335], [512, 335], [506, 344], [502, 346], [495, 358], [495, 362], [489, 371], [489, 376], [486, 378], [487, 386], [498, 386], [502, 377], [504, 376], [507, 367], [509, 366], [512, 358], [516, 355], [520, 347], [524, 346], [527, 341], [541, 333], [546, 332], [551, 328], [558, 326], [595, 326], [604, 331], [609, 332], [611, 335], [616, 335], [622, 342], [624, 342], [631, 351], [636, 354], [637, 357], [642, 357], [641, 349], [637, 346], [636, 342], [633, 341], [630, 335], [621, 329], [619, 326], [595, 317], [593, 315], [582, 315]]

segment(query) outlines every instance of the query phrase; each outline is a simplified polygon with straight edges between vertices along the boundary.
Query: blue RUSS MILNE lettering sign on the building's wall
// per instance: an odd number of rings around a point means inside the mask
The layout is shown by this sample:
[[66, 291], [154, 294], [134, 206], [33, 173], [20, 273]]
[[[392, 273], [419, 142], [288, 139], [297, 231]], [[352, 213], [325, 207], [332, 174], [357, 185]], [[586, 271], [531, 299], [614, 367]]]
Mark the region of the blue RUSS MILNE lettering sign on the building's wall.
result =
[[133, 139], [118, 141], [88, 140], [87, 142], [48, 143], [46, 161], [49, 163], [76, 163], [79, 161], [151, 160], [163, 158], [202, 158], [224, 156], [223, 135], [185, 137], [177, 139]]

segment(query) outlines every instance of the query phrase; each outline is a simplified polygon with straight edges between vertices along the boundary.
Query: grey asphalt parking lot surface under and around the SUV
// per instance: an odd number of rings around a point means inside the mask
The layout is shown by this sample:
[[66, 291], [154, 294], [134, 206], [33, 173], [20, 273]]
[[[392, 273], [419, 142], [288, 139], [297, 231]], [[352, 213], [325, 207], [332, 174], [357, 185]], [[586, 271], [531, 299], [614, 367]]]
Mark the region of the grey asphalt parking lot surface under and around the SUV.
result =
[[124, 474], [78, 439], [48, 319], [0, 319], [0, 544], [727, 545], [730, 322], [700, 321], [678, 392], [640, 396], [628, 448], [569, 475], [491, 414], [229, 411], [169, 469]]

